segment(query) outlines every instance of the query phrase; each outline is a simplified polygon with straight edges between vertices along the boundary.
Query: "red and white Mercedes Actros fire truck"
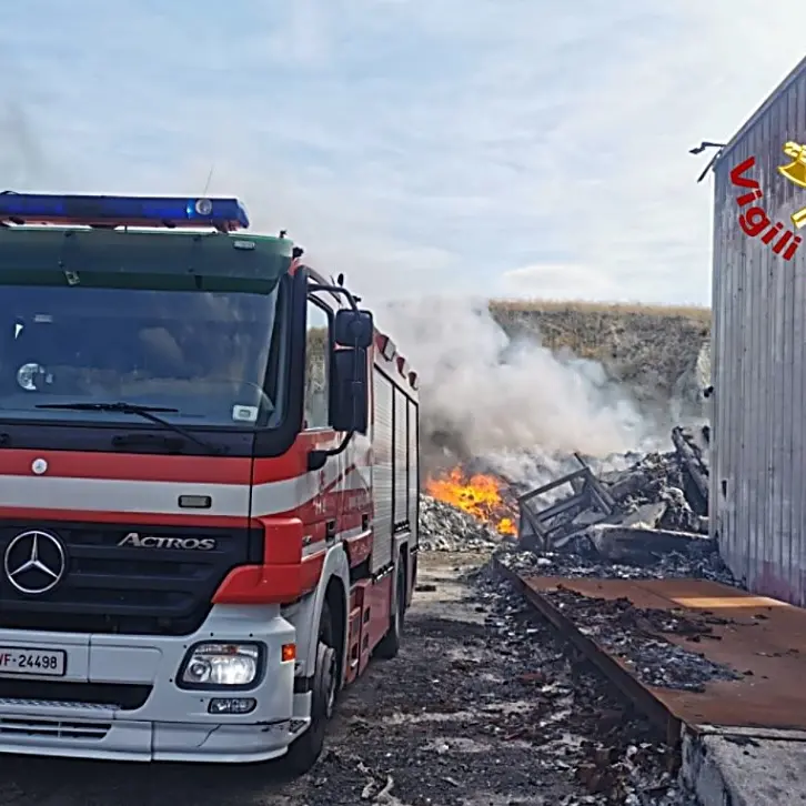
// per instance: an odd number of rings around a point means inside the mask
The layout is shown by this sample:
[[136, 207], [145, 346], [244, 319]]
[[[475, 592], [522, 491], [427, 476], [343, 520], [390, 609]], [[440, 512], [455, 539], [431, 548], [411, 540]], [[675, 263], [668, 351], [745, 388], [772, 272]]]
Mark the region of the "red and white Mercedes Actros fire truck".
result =
[[417, 376], [236, 199], [0, 193], [0, 753], [316, 760], [399, 649]]

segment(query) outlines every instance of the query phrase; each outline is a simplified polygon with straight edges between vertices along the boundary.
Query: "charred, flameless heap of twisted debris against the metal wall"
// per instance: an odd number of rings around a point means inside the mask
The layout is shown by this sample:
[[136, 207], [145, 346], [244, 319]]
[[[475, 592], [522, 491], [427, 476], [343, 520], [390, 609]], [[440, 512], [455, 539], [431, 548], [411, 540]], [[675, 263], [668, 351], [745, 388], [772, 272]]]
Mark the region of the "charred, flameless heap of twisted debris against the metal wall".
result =
[[[518, 548], [500, 552], [501, 562], [542, 576], [735, 585], [707, 535], [708, 436], [707, 426], [675, 429], [673, 451], [625, 456], [626, 470], [598, 475], [577, 456], [573, 473], [520, 497]], [[571, 493], [562, 496], [564, 485]]]

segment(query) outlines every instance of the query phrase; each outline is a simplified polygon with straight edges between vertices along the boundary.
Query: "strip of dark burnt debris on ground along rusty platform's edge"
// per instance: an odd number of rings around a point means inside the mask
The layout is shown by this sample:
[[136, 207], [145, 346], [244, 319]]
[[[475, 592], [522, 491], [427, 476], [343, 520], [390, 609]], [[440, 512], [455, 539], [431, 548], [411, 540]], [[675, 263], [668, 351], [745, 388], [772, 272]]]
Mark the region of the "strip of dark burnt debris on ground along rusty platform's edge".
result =
[[508, 583], [486, 567], [473, 585], [492, 607], [486, 623], [500, 635], [498, 652], [522, 667], [526, 659], [528, 669], [516, 679], [532, 687], [535, 709], [531, 719], [511, 713], [501, 725], [504, 740], [538, 745], [542, 763], [567, 769], [587, 793], [557, 803], [693, 806], [676, 784], [672, 749], [657, 740], [652, 726], [613, 699], [607, 684], [577, 663]]

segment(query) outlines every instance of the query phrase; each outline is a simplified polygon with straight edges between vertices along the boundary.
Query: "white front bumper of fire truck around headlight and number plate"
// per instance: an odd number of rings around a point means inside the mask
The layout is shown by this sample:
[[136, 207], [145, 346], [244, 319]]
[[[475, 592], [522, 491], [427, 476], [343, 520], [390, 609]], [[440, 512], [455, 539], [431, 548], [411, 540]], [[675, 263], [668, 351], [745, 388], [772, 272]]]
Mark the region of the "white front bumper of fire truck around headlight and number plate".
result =
[[[274, 606], [216, 605], [189, 636], [83, 635], [0, 629], [2, 647], [64, 649], [72, 683], [66, 701], [0, 698], [0, 753], [121, 760], [261, 762], [281, 756], [308, 726], [310, 695], [294, 695], [294, 662], [282, 661], [294, 627]], [[187, 691], [174, 681], [188, 649], [200, 642], [260, 642], [265, 667], [249, 691]], [[14, 678], [21, 679], [21, 678]], [[52, 678], [26, 676], [48, 691]], [[147, 686], [139, 707], [82, 699], [93, 684]], [[62, 691], [63, 691], [62, 686]], [[252, 697], [249, 714], [209, 714], [215, 697]], [[295, 713], [296, 712], [296, 713]]]

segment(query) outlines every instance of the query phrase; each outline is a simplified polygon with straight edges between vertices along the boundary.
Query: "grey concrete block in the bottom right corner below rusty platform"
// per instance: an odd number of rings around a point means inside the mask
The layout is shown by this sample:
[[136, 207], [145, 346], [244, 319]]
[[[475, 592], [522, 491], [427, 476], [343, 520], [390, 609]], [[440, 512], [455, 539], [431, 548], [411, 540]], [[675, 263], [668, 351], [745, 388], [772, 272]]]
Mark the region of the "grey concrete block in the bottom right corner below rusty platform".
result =
[[793, 740], [686, 731], [681, 775], [702, 806], [806, 804], [806, 742], [795, 735]]

